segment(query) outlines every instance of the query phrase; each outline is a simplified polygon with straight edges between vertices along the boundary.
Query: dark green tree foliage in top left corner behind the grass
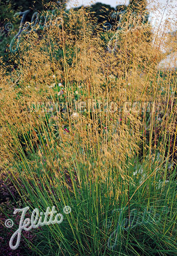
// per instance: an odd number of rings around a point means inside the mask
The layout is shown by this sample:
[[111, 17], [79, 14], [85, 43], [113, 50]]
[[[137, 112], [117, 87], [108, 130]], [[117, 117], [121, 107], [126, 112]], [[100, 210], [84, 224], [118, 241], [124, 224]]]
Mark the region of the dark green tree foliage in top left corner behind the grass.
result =
[[[22, 19], [22, 14], [15, 14], [29, 10], [29, 13], [25, 15], [24, 22], [31, 22], [34, 12], [40, 13], [51, 10], [54, 6], [56, 8], [65, 8], [66, 2], [66, 0], [0, 0], [0, 57], [3, 57], [3, 62], [6, 63], [6, 66], [10, 61], [8, 56], [9, 44], [19, 31], [20, 20]], [[52, 3], [54, 4], [53, 7]]]

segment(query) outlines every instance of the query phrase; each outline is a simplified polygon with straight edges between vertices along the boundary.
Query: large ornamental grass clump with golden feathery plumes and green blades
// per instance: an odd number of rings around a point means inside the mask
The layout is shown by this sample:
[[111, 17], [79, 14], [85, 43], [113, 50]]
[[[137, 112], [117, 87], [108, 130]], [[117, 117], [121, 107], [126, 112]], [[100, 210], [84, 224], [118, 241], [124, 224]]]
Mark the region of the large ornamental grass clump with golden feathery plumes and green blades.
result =
[[94, 33], [83, 8], [57, 17], [21, 37], [16, 70], [0, 70], [2, 172], [29, 212], [71, 207], [26, 244], [45, 256], [176, 255], [176, 73], [157, 70], [143, 27], [110, 52], [112, 32]]

